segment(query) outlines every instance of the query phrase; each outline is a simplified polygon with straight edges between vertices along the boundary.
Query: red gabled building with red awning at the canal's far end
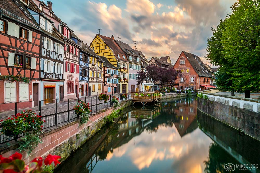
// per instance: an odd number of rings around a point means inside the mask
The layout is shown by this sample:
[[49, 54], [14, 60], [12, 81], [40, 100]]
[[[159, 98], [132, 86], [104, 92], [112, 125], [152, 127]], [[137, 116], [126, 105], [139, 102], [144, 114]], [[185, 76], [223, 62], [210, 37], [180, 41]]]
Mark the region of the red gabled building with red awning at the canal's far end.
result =
[[216, 88], [213, 85], [214, 71], [202, 62], [202, 60], [188, 52], [182, 51], [173, 68], [180, 70], [183, 75], [178, 77], [176, 83], [178, 89], [190, 88], [191, 90], [205, 90]]

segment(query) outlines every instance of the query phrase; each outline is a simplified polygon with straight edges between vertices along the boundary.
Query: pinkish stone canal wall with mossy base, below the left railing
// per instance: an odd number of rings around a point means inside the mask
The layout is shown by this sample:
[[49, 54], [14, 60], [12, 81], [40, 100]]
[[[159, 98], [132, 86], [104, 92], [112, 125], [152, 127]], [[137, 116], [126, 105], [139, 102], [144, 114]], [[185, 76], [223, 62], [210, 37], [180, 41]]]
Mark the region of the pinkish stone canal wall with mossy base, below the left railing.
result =
[[[117, 109], [121, 107], [126, 108], [131, 105], [132, 100], [126, 100], [121, 102], [121, 106]], [[72, 151], [75, 151], [106, 124], [106, 116], [113, 110], [114, 108], [110, 107], [90, 115], [90, 121], [82, 126], [79, 126], [80, 120], [76, 120], [43, 133], [41, 135], [43, 143], [39, 144], [30, 156], [26, 157], [26, 152], [22, 153], [25, 163], [29, 163], [35, 157], [45, 157], [48, 154], [60, 155], [60, 161], [63, 161], [69, 157]], [[17, 148], [17, 143], [13, 142], [10, 148]], [[9, 157], [16, 151], [1, 148], [0, 154], [3, 157]]]

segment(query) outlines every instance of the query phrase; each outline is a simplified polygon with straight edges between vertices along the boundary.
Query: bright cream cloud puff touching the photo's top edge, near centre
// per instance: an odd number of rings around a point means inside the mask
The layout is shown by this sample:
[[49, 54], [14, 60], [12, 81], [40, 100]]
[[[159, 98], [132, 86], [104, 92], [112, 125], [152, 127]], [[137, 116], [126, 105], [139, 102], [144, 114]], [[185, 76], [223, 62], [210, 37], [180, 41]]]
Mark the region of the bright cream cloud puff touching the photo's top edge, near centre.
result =
[[126, 11], [129, 13], [138, 13], [149, 15], [154, 13], [155, 5], [149, 0], [127, 0]]

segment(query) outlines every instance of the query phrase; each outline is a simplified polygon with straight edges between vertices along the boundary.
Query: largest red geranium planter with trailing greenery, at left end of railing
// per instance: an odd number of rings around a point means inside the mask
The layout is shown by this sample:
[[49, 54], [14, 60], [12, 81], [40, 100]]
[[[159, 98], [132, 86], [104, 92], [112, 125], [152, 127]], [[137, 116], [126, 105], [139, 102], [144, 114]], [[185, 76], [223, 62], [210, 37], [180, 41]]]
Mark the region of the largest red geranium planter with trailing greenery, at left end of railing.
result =
[[21, 140], [18, 141], [18, 149], [20, 151], [28, 150], [29, 155], [41, 143], [39, 135], [42, 131], [43, 122], [46, 121], [42, 120], [41, 116], [33, 113], [32, 109], [24, 110], [5, 120], [0, 120], [1, 126], [3, 126], [1, 133], [6, 136], [22, 134]]

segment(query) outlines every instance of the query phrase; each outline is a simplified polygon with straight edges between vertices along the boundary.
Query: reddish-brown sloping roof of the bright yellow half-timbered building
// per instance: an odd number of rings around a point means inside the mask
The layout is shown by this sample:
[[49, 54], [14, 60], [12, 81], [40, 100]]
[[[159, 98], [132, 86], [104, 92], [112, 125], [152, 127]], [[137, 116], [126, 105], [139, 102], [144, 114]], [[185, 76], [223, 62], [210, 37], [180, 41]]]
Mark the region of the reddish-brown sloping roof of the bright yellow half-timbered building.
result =
[[[128, 59], [124, 59], [123, 56], [126, 56], [126, 54], [122, 51], [122, 49], [119, 47], [119, 45], [113, 41], [110, 37], [102, 36], [100, 34], [97, 34], [107, 45], [108, 47], [114, 52], [115, 58], [119, 61], [126, 61], [128, 62]], [[117, 54], [120, 58], [117, 57]]]

